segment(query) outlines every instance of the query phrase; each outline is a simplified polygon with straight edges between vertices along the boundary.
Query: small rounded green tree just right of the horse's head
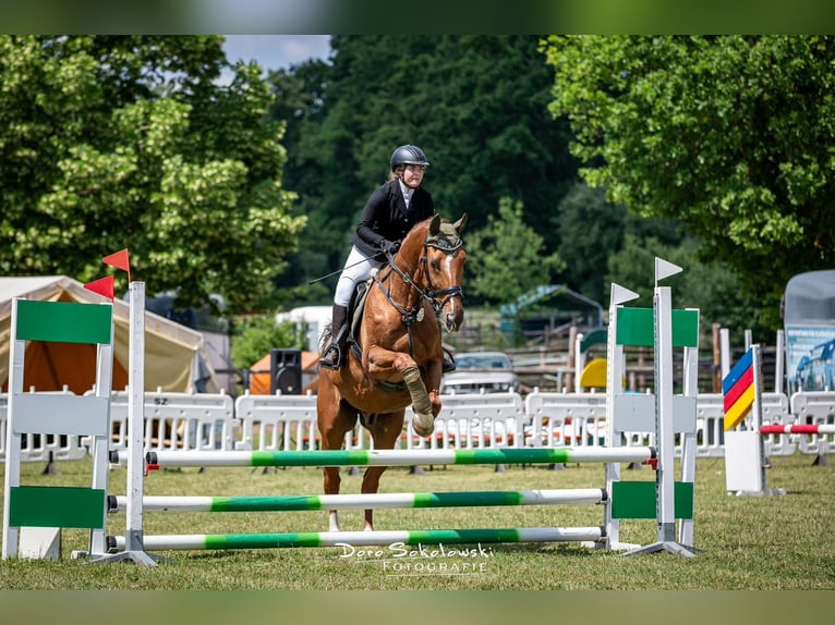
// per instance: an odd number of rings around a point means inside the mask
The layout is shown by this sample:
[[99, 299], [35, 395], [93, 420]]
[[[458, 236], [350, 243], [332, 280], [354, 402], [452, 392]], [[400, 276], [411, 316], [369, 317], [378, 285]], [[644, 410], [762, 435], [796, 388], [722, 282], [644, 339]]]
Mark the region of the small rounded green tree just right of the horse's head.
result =
[[550, 284], [565, 269], [555, 254], [544, 253], [544, 241], [522, 221], [522, 203], [501, 198], [498, 216], [467, 237], [467, 289], [488, 303], [515, 302], [541, 284]]

